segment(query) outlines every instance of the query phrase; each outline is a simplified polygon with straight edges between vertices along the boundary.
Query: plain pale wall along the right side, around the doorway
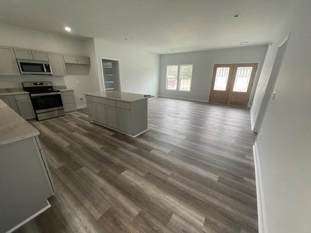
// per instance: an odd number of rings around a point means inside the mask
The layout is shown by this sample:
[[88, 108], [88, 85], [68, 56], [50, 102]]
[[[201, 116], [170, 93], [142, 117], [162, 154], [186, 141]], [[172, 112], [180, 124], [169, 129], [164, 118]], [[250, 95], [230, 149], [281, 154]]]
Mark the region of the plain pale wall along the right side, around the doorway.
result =
[[276, 80], [276, 99], [269, 101], [262, 136], [256, 141], [262, 182], [257, 188], [263, 192], [269, 233], [311, 232], [311, 1], [295, 4], [259, 81], [266, 83], [276, 46], [291, 32]]

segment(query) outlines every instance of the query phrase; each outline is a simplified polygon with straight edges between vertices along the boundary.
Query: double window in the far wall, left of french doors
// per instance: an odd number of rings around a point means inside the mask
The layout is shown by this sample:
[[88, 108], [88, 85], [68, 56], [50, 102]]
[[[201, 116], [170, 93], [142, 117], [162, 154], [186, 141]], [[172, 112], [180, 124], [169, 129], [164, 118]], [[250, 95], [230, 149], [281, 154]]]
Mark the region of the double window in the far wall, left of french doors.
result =
[[167, 66], [166, 89], [190, 91], [192, 78], [192, 65], [170, 65]]

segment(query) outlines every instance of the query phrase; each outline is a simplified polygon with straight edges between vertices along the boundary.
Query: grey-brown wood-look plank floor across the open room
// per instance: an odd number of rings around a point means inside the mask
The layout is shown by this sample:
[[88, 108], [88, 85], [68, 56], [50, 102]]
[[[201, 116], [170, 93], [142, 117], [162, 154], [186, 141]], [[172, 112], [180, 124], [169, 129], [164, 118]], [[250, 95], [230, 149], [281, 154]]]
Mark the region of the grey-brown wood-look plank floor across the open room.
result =
[[86, 109], [32, 123], [56, 193], [16, 233], [257, 233], [249, 110], [165, 98], [148, 109], [137, 138]]

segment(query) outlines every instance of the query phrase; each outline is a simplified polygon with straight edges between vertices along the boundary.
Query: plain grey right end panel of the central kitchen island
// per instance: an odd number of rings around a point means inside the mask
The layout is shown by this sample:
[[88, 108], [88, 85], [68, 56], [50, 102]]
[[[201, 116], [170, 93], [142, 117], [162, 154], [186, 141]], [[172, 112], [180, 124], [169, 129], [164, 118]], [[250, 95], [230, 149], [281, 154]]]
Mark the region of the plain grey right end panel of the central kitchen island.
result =
[[132, 135], [148, 130], [148, 99], [131, 103]]

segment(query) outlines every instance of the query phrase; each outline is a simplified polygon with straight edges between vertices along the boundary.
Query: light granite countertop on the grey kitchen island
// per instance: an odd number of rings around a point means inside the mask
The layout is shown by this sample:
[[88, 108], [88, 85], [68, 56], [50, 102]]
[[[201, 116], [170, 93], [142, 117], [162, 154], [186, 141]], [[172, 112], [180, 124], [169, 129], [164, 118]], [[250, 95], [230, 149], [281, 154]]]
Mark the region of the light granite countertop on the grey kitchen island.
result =
[[148, 96], [145, 97], [143, 94], [135, 94], [135, 93], [129, 93], [129, 92], [121, 92], [121, 91], [99, 91], [99, 92], [91, 92], [91, 93], [85, 93], [88, 96], [95, 96], [100, 97], [104, 99], [109, 100], [119, 100], [124, 102], [136, 102], [139, 100], [145, 100], [152, 98], [154, 96]]

